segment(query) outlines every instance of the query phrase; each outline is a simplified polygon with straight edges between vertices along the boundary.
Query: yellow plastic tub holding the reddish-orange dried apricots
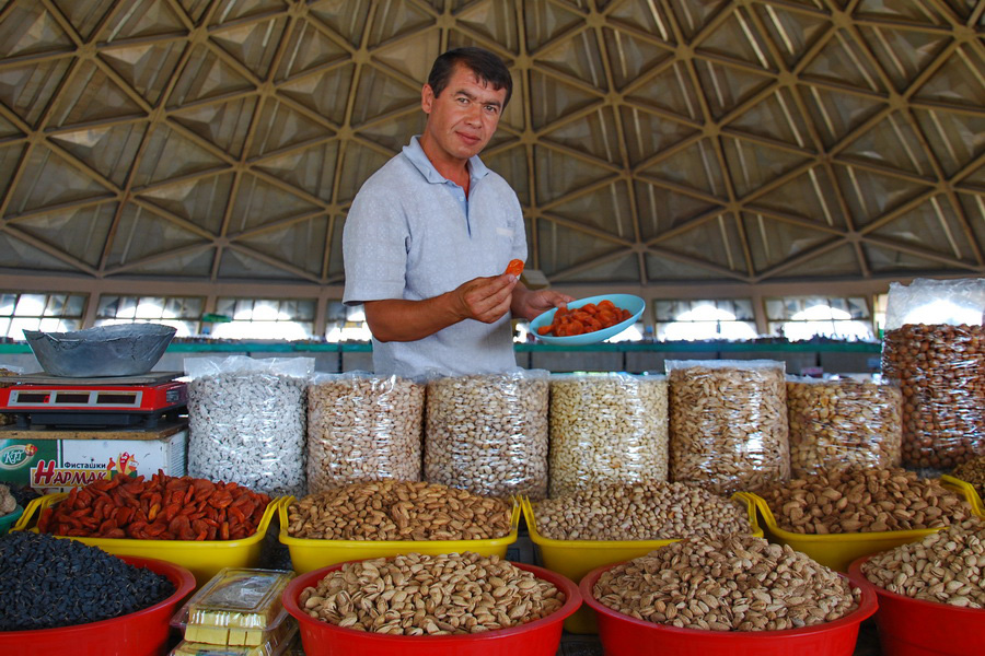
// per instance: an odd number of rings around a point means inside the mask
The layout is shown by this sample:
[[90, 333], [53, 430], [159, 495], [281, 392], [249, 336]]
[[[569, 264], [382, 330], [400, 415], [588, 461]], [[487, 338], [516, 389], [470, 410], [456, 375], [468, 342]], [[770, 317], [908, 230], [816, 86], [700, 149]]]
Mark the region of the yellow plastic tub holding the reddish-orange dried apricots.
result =
[[[68, 496], [65, 492], [47, 494], [35, 499], [27, 504], [27, 509], [11, 530], [37, 531], [36, 523], [49, 505], [59, 503]], [[277, 512], [280, 499], [274, 499], [267, 505], [256, 532], [248, 538], [240, 540], [134, 540], [130, 538], [69, 538], [55, 536], [70, 540], [79, 540], [90, 547], [99, 547], [103, 551], [114, 555], [135, 555], [139, 558], [155, 558], [169, 561], [188, 569], [195, 575], [198, 585], [204, 585], [222, 567], [248, 567], [259, 563], [260, 548], [267, 528]]]

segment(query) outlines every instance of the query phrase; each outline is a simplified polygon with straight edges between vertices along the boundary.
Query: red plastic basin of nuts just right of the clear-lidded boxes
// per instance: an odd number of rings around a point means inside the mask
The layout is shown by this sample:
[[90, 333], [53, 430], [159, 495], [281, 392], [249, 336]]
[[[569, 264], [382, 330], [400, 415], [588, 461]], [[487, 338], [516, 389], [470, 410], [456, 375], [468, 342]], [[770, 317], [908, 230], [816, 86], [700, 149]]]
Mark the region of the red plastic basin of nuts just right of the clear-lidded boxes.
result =
[[343, 629], [310, 617], [298, 606], [306, 587], [340, 569], [337, 563], [303, 574], [283, 590], [283, 607], [298, 618], [306, 656], [554, 656], [560, 645], [565, 619], [581, 606], [578, 586], [543, 567], [513, 563], [537, 578], [553, 583], [565, 594], [564, 606], [546, 618], [521, 626], [467, 635], [389, 635]]

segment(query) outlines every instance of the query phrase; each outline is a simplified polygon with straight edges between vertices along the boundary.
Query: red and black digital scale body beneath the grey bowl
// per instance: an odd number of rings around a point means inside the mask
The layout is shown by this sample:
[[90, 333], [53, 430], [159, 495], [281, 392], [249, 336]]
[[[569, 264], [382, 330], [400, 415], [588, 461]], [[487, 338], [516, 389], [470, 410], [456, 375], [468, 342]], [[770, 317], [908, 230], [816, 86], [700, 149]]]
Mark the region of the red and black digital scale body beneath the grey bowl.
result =
[[144, 426], [176, 420], [188, 405], [188, 386], [175, 380], [183, 372], [140, 376], [67, 378], [50, 374], [9, 376], [0, 388], [0, 412], [15, 415], [18, 427]]

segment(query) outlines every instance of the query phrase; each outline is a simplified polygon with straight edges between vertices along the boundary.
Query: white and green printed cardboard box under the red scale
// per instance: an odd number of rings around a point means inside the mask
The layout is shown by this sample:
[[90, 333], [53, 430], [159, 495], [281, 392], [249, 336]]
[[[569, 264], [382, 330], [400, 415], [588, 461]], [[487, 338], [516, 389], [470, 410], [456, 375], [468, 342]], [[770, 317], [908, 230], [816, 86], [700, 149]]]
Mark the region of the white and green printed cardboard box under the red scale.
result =
[[[34, 488], [40, 494], [68, 492], [111, 476], [150, 478], [162, 469], [187, 472], [188, 430], [185, 426], [139, 434], [85, 431], [0, 430], [0, 482]], [[136, 437], [136, 438], [135, 438]]]

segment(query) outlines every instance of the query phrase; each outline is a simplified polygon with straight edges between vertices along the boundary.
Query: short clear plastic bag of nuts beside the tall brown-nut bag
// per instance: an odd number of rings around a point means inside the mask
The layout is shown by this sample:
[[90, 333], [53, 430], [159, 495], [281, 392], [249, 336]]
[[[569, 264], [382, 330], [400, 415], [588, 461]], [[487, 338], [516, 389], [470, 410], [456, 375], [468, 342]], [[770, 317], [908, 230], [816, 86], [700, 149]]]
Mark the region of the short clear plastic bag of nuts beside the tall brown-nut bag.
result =
[[787, 377], [793, 476], [847, 467], [899, 467], [900, 388], [868, 379]]

